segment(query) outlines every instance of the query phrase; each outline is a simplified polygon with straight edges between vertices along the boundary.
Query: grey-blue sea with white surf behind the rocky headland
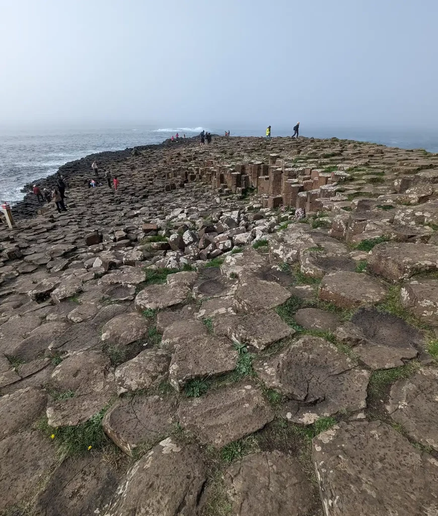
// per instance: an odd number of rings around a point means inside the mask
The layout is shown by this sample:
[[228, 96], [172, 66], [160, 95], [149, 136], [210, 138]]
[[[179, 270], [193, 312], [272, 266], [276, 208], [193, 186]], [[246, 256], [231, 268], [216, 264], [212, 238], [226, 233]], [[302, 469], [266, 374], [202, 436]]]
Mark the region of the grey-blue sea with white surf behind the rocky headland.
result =
[[[272, 136], [290, 136], [292, 126], [272, 126]], [[263, 136], [265, 127], [204, 127], [212, 134], [231, 136]], [[110, 128], [0, 128], [0, 201], [16, 202], [23, 198], [25, 183], [55, 173], [66, 162], [88, 154], [116, 151], [151, 143], [160, 143], [177, 132], [192, 137], [203, 127], [120, 126]], [[300, 125], [300, 135], [315, 138], [348, 138], [382, 143], [390, 147], [425, 149], [438, 152], [437, 131], [374, 130], [373, 128], [327, 128]], [[213, 140], [214, 142], [214, 140]]]

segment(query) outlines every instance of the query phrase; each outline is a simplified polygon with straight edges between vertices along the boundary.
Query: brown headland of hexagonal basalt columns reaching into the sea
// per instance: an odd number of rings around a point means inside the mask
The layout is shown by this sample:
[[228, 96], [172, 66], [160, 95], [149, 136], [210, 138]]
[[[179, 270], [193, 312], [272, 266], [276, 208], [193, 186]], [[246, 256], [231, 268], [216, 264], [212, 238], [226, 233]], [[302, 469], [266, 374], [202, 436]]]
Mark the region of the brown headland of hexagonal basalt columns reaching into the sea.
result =
[[68, 212], [0, 226], [0, 514], [438, 514], [438, 155], [214, 137], [60, 172]]

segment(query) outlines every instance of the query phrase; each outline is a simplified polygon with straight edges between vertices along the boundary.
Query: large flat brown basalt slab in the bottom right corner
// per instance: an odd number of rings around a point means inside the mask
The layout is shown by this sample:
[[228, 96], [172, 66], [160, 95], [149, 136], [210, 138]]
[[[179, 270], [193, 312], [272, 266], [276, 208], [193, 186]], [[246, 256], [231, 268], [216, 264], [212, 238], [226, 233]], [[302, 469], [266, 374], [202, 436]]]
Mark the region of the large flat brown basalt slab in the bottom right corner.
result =
[[313, 439], [313, 460], [327, 515], [410, 516], [438, 510], [438, 464], [389, 425], [335, 426]]

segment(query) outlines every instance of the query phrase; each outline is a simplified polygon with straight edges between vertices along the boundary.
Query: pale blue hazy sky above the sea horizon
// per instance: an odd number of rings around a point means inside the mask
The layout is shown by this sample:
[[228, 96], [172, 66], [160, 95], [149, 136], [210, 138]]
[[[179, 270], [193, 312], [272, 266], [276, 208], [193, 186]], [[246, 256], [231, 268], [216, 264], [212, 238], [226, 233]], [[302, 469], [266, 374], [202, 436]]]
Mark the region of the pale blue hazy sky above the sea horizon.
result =
[[0, 0], [0, 122], [438, 127], [437, 0]]

